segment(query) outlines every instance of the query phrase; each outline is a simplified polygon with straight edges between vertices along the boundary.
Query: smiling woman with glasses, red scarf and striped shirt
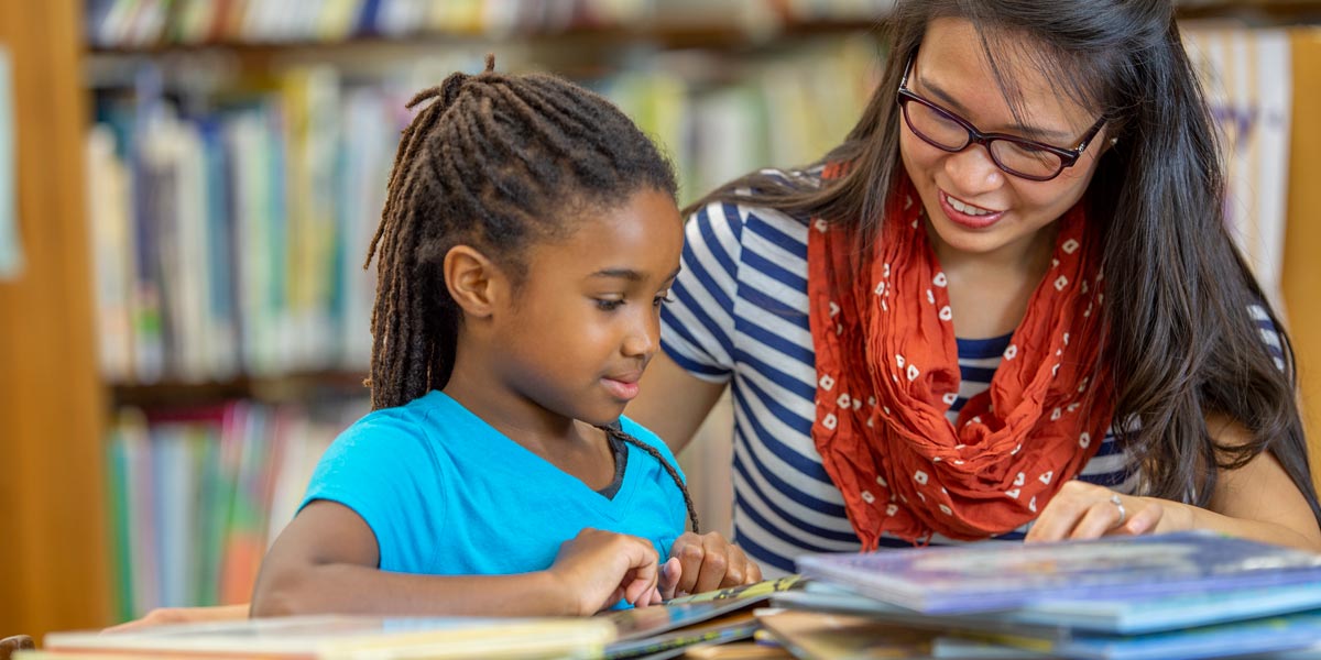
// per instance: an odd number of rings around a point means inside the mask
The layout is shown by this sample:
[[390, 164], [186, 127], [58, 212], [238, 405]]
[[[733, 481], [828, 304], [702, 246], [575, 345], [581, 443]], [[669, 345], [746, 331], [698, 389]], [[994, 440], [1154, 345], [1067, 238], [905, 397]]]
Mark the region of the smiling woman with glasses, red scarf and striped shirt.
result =
[[731, 384], [736, 540], [769, 573], [1190, 528], [1321, 549], [1170, 1], [900, 0], [886, 29], [844, 144], [690, 210], [629, 414], [678, 449]]

